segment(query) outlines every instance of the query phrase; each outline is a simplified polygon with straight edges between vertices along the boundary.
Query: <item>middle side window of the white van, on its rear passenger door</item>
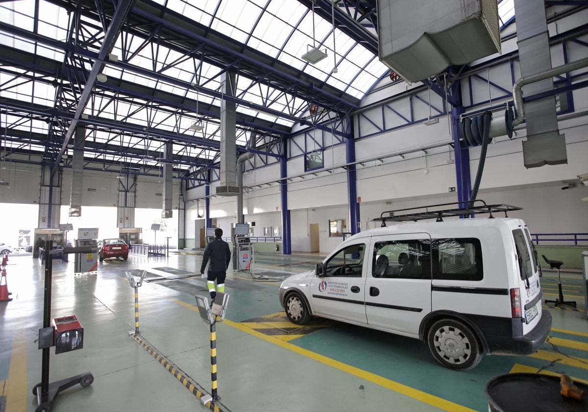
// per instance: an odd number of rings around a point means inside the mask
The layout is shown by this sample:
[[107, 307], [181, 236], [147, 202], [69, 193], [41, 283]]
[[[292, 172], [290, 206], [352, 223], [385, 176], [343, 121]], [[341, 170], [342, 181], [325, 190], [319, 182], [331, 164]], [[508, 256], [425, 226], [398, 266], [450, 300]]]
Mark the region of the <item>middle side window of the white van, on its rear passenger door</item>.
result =
[[372, 277], [430, 279], [429, 240], [376, 242]]

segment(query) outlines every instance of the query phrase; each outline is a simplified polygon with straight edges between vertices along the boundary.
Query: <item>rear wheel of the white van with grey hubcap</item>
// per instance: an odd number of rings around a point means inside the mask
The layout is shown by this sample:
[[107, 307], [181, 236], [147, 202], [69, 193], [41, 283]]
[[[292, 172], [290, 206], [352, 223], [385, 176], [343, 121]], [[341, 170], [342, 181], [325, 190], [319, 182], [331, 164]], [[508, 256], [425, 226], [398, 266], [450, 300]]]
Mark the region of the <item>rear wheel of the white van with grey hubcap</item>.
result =
[[458, 320], [436, 321], [429, 329], [427, 340], [437, 362], [446, 368], [470, 370], [482, 360], [476, 334]]

